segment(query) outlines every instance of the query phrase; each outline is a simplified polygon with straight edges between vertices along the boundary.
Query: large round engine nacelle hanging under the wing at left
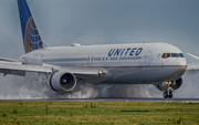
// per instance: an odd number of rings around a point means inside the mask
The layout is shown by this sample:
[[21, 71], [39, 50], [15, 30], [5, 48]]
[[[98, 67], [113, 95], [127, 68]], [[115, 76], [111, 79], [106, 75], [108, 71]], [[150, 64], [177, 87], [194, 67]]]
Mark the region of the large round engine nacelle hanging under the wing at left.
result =
[[69, 92], [76, 86], [76, 77], [73, 73], [54, 72], [49, 76], [48, 85], [56, 92]]

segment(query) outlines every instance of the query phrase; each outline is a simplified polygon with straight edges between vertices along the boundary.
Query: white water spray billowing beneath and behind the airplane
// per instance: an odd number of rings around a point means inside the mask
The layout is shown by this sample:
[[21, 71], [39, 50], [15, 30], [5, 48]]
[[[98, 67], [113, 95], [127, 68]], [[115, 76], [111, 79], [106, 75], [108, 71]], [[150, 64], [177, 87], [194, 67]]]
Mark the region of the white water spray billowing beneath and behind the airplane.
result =
[[[187, 71], [182, 87], [174, 93], [174, 97], [199, 97], [199, 72]], [[0, 98], [94, 98], [94, 97], [163, 97], [163, 92], [154, 85], [93, 85], [85, 81], [78, 82], [73, 92], [57, 93], [52, 91], [38, 73], [27, 76], [0, 76]]]

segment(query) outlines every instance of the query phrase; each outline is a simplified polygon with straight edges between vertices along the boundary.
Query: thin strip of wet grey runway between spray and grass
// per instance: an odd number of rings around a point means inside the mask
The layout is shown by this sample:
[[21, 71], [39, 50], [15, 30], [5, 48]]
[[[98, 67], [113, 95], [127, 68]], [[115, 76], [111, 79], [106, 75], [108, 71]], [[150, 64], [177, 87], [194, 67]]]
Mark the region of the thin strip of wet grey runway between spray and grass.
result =
[[199, 103], [199, 98], [14, 98], [0, 101], [52, 101], [52, 102], [181, 102]]

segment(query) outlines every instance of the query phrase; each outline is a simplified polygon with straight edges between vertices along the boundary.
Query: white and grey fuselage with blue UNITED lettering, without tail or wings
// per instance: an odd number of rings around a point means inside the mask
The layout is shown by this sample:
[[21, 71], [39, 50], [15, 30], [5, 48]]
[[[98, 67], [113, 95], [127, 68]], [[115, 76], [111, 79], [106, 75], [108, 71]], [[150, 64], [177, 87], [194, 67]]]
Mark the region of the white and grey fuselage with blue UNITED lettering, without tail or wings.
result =
[[185, 58], [163, 58], [164, 53], [182, 53], [167, 43], [130, 43], [45, 48], [27, 53], [27, 64], [98, 69], [106, 79], [92, 81], [107, 84], [155, 84], [181, 77]]

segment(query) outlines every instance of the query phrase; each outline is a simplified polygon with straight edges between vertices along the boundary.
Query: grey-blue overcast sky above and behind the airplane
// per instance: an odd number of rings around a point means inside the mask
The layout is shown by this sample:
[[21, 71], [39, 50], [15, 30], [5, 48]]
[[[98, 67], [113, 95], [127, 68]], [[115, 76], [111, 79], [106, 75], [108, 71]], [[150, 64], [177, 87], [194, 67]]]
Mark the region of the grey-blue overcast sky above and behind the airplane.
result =
[[[27, 1], [48, 46], [166, 42], [199, 56], [199, 0]], [[24, 54], [17, 0], [0, 0], [0, 58]]]

